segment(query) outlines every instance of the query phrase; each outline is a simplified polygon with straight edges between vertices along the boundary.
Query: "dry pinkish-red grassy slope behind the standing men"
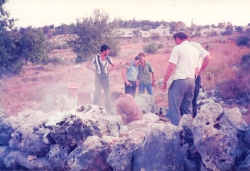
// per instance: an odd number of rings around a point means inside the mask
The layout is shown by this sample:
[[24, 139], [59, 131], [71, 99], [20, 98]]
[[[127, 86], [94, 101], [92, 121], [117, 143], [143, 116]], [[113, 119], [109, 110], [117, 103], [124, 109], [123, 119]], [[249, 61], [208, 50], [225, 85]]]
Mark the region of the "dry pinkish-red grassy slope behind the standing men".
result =
[[[203, 47], [207, 47], [213, 58], [202, 75], [205, 90], [212, 90], [216, 82], [230, 77], [231, 66], [235, 61], [239, 60], [242, 54], [250, 53], [250, 48], [239, 48], [235, 45], [231, 39], [236, 36], [193, 39], [193, 41], [201, 43]], [[63, 44], [65, 39], [65, 36], [60, 35], [52, 37], [50, 41], [54, 44]], [[166, 71], [174, 41], [161, 39], [157, 43], [162, 44], [163, 47], [158, 49], [156, 54], [148, 54], [146, 60], [152, 64], [156, 79], [160, 79]], [[117, 67], [110, 74], [111, 91], [124, 91], [121, 68], [126, 61], [133, 60], [139, 52], [143, 51], [145, 44], [140, 38], [122, 41], [120, 54], [112, 58]], [[0, 107], [8, 115], [15, 116], [25, 108], [35, 110], [53, 108], [53, 104], [44, 106], [44, 101], [48, 101], [48, 98], [55, 98], [58, 94], [66, 94], [67, 85], [70, 82], [75, 82], [78, 85], [81, 102], [83, 104], [91, 103], [90, 92], [93, 91], [93, 74], [84, 67], [85, 63], [75, 64], [76, 55], [69, 48], [53, 50], [49, 55], [61, 58], [63, 63], [57, 66], [53, 64], [46, 66], [27, 65], [20, 75], [10, 78], [4, 77], [0, 80]], [[167, 106], [166, 96], [160, 90], [154, 89], [154, 92], [157, 96], [157, 102]], [[101, 100], [101, 105], [104, 105], [103, 100]], [[248, 108], [247, 106], [243, 107]]]

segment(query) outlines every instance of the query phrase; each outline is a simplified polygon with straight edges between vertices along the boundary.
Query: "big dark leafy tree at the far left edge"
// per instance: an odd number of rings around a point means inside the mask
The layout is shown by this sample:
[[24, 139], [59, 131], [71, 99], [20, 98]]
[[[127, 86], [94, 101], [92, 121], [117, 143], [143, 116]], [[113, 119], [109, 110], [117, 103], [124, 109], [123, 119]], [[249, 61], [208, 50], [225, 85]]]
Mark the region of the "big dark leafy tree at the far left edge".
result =
[[41, 30], [14, 27], [14, 19], [3, 9], [0, 0], [0, 76], [18, 74], [27, 62], [39, 63], [47, 58], [45, 38]]

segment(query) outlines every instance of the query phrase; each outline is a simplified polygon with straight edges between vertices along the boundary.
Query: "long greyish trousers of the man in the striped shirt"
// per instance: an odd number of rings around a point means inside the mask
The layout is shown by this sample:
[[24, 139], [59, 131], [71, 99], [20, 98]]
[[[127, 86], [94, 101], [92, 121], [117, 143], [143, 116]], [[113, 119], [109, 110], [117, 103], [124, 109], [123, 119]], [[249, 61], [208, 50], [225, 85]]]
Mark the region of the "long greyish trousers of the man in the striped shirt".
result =
[[105, 95], [106, 111], [109, 112], [111, 110], [109, 76], [96, 74], [95, 75], [95, 96], [94, 96], [95, 105], [99, 105], [99, 98], [101, 95], [102, 88], [103, 88], [104, 95]]

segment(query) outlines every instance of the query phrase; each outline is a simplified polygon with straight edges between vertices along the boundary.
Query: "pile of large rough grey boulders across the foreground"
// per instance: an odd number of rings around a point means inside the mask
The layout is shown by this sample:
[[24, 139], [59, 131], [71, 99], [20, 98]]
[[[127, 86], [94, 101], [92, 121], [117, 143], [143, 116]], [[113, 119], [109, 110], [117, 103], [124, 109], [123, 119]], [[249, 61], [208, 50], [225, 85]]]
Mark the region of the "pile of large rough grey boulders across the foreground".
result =
[[250, 130], [238, 108], [210, 102], [179, 126], [153, 114], [123, 125], [95, 105], [65, 113], [0, 110], [0, 170], [250, 170]]

